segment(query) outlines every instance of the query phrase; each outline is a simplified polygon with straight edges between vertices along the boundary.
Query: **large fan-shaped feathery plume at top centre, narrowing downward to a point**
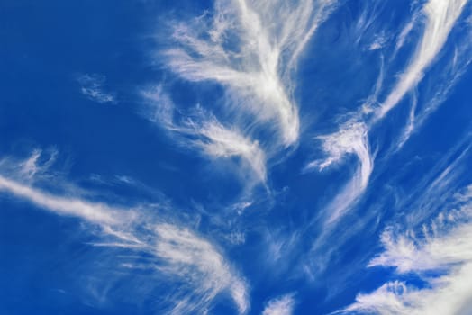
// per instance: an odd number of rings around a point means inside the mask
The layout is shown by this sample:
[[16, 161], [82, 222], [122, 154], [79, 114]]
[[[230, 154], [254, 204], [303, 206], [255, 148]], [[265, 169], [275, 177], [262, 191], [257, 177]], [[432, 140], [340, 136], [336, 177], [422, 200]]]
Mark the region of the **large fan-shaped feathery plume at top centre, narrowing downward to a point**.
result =
[[259, 122], [276, 121], [282, 144], [289, 146], [300, 128], [290, 77], [333, 4], [216, 1], [212, 14], [176, 23], [173, 38], [180, 47], [165, 51], [167, 66], [187, 80], [225, 86], [233, 110], [250, 112]]

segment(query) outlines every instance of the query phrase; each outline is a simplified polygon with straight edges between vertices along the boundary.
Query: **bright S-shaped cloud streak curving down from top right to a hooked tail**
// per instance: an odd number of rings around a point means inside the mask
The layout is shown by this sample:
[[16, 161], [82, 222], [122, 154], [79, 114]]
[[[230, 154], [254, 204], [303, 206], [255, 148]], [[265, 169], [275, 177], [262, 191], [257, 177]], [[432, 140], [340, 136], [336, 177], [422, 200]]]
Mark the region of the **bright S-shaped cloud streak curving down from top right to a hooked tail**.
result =
[[[318, 166], [318, 168], [322, 170], [324, 166], [329, 166], [333, 161], [339, 161], [341, 157], [349, 154], [355, 154], [359, 158], [358, 171], [352, 176], [349, 183], [346, 184], [340, 193], [338, 193], [334, 201], [331, 202], [331, 206], [328, 207], [329, 211], [332, 212], [331, 218], [338, 218], [341, 213], [346, 212], [349, 207], [352, 206], [353, 202], [365, 191], [368, 185], [370, 174], [374, 169], [374, 158], [371, 157], [368, 144], [368, 132], [372, 128], [372, 125], [380, 121], [387, 112], [402, 100], [407, 92], [421, 81], [425, 69], [431, 65], [434, 58], [436, 58], [437, 54], [440, 52], [440, 49], [444, 46], [465, 4], [467, 4], [467, 0], [430, 0], [424, 4], [422, 12], [426, 17], [426, 22], [422, 37], [413, 53], [412, 61], [400, 76], [393, 90], [387, 94], [386, 101], [379, 107], [374, 107], [374, 104], [377, 103], [375, 100], [382, 88], [382, 80], [385, 76], [383, 67], [381, 67], [381, 73], [377, 80], [374, 94], [368, 98], [368, 101], [362, 106], [361, 111], [355, 115], [355, 118], [348, 121], [348, 123], [341, 124], [337, 132], [317, 137], [317, 139], [322, 139], [322, 148], [329, 157], [327, 157], [324, 162], [311, 162], [308, 168]], [[421, 21], [419, 15], [415, 14], [413, 22], [409, 23], [400, 34], [397, 49], [403, 45], [404, 37], [413, 28], [413, 23], [418, 23], [419, 21]], [[465, 61], [466, 65], [469, 62], [468, 59], [469, 58]], [[456, 80], [454, 80], [454, 82], [455, 81]], [[447, 94], [449, 89], [450, 85], [444, 87], [440, 95], [435, 96], [433, 103], [441, 101], [444, 98], [444, 94]], [[415, 110], [416, 96], [413, 100], [413, 108], [410, 112], [408, 125], [403, 130], [403, 135], [397, 143], [398, 148], [401, 148], [404, 142], [413, 133], [415, 127]], [[374, 116], [369, 119], [371, 112], [374, 112]], [[362, 132], [358, 131], [359, 128], [352, 127], [357, 124], [365, 126]], [[349, 137], [346, 135], [349, 135]], [[338, 145], [333, 146], [333, 143], [338, 143]], [[334, 207], [332, 205], [334, 205]]]

